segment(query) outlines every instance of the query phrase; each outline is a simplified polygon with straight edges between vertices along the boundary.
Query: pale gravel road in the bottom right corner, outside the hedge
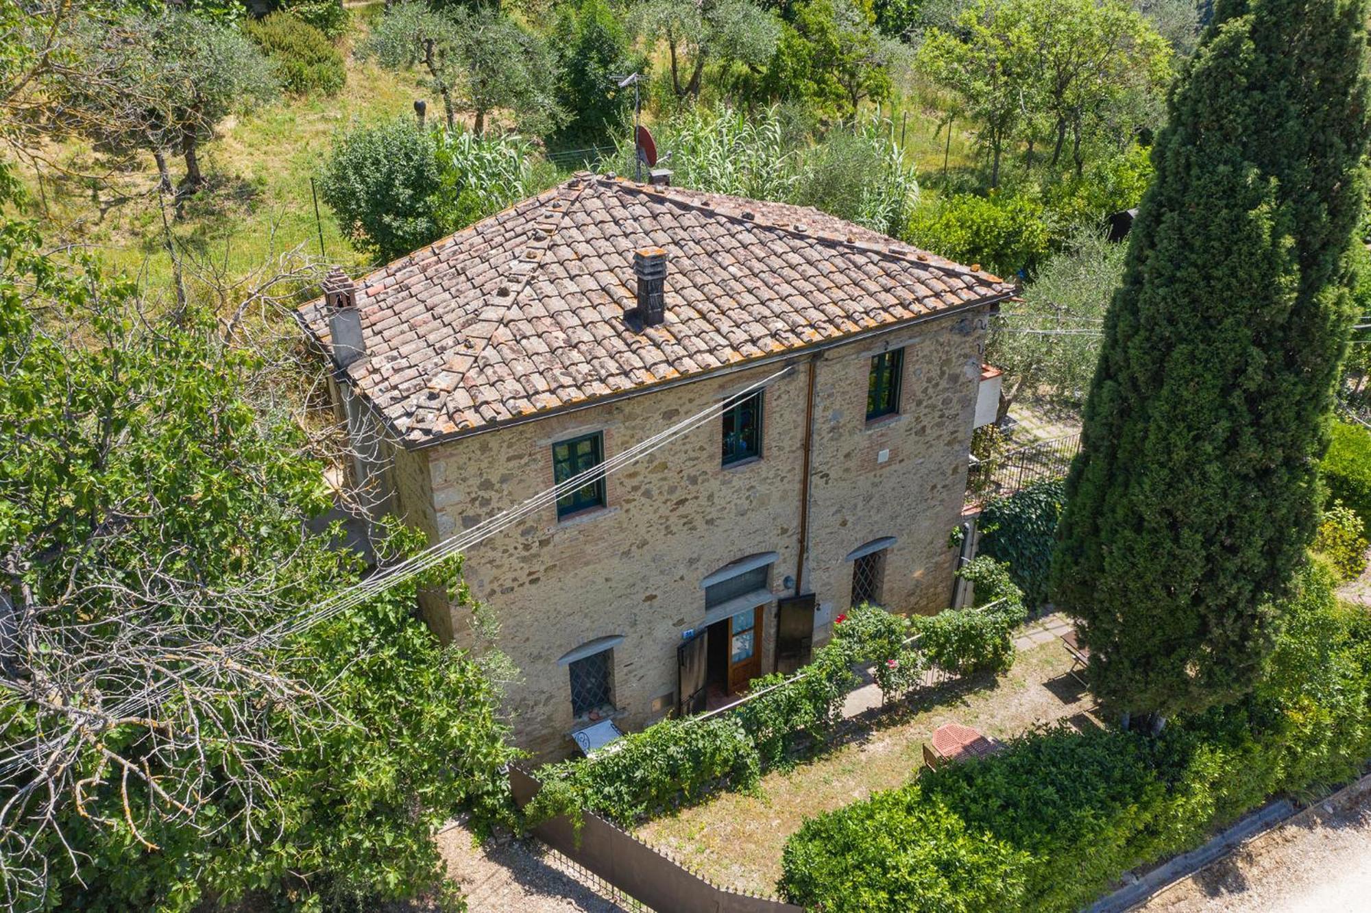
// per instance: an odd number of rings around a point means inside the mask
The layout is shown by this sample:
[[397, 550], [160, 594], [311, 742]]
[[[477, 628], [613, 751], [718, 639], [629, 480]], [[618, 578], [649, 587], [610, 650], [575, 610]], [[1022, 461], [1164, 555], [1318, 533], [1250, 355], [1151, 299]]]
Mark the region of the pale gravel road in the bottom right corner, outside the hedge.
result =
[[1265, 833], [1179, 881], [1142, 913], [1371, 910], [1371, 792], [1346, 809]]

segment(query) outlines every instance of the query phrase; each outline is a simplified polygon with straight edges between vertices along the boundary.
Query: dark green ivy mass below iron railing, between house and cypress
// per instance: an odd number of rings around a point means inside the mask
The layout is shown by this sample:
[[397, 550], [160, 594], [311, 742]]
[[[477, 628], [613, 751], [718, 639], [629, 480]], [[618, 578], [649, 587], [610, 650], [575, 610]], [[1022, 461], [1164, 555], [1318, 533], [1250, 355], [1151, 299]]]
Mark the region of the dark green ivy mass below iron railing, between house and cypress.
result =
[[1065, 480], [1052, 478], [995, 498], [980, 511], [979, 554], [1009, 565], [1009, 576], [1032, 609], [1047, 602], [1047, 577], [1056, 547]]

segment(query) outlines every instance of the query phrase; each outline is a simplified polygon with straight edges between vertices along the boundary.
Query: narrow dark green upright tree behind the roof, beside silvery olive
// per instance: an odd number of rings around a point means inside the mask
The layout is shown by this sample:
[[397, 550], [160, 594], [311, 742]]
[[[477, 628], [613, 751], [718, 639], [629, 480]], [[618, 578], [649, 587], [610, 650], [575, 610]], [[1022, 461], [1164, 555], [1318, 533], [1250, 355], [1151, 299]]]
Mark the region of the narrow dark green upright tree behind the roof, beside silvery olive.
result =
[[569, 118], [550, 137], [553, 148], [599, 145], [624, 129], [632, 89], [618, 81], [643, 69], [628, 29], [606, 0], [579, 0], [557, 8], [551, 44], [558, 56], [557, 106]]

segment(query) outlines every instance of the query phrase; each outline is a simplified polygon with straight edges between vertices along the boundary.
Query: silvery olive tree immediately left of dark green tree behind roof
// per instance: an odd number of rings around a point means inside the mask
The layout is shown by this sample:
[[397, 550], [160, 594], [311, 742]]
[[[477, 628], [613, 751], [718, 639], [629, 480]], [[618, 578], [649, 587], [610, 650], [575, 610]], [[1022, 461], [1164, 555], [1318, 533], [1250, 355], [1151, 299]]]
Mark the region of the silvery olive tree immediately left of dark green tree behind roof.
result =
[[553, 97], [557, 67], [546, 42], [492, 5], [435, 11], [398, 3], [361, 52], [389, 70], [422, 66], [450, 130], [459, 111], [470, 112], [477, 134], [496, 111], [528, 133], [544, 133], [563, 117]]

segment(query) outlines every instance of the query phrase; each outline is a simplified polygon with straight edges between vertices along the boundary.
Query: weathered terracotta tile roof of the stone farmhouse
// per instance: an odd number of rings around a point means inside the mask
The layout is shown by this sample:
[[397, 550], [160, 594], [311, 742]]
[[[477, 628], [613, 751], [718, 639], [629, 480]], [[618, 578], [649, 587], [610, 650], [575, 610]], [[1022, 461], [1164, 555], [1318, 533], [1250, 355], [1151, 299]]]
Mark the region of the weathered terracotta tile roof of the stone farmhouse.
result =
[[[651, 245], [666, 321], [643, 328]], [[347, 374], [422, 446], [1010, 291], [817, 210], [577, 174], [359, 280]], [[326, 345], [322, 299], [300, 318]]]

